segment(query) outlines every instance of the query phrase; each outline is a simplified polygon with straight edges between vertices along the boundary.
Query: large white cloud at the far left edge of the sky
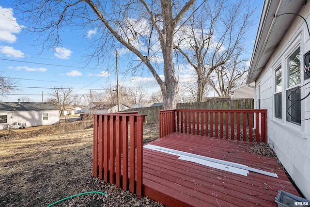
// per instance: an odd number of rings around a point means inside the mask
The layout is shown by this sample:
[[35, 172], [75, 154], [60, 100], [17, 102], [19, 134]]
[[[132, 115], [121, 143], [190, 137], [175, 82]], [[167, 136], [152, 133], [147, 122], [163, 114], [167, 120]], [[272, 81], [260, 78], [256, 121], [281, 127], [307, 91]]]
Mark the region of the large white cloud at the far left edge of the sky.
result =
[[0, 6], [0, 42], [14, 43], [17, 39], [14, 34], [20, 31], [21, 26], [13, 16], [13, 9]]

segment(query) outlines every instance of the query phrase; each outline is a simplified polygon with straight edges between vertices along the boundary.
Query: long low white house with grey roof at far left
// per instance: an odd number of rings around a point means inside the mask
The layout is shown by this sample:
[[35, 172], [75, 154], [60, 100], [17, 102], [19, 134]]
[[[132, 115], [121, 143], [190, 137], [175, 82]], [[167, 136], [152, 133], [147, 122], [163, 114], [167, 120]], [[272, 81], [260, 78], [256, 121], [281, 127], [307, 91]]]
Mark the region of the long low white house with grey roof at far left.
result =
[[52, 103], [0, 102], [0, 129], [59, 123], [59, 110]]

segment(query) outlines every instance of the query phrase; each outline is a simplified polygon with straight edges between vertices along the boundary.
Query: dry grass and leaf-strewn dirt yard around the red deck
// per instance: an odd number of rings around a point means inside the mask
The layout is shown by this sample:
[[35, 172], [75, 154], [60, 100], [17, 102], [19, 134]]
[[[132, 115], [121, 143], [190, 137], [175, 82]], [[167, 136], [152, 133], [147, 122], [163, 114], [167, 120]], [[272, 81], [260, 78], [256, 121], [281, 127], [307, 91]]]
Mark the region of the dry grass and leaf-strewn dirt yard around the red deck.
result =
[[[88, 191], [54, 206], [163, 207], [93, 177], [92, 121], [47, 127], [2, 130], [0, 133], [0, 206], [44, 207]], [[143, 142], [158, 138], [158, 124], [144, 124]], [[266, 144], [254, 144], [255, 153], [275, 154]]]

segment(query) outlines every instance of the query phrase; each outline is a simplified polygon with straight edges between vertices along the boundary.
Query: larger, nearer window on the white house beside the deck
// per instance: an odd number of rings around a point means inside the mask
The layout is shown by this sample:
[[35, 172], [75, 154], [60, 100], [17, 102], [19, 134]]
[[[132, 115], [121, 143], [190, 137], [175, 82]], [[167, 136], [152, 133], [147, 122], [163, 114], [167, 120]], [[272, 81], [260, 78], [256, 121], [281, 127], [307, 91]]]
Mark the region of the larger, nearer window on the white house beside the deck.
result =
[[300, 106], [300, 48], [288, 59], [288, 88], [286, 89], [286, 121], [301, 124]]

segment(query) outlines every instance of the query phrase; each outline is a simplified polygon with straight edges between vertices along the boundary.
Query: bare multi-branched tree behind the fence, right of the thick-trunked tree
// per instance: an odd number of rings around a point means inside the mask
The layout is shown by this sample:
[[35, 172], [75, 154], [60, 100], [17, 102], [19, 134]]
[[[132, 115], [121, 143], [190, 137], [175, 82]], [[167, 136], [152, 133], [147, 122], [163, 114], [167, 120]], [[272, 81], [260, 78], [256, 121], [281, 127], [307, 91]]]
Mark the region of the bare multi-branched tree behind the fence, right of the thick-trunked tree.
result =
[[[244, 2], [208, 1], [177, 33], [174, 48], [197, 73], [197, 102], [202, 101], [208, 81], [212, 83], [212, 78], [227, 74], [222, 69], [229, 67], [224, 65], [239, 57], [236, 53], [244, 48], [242, 41], [252, 13]], [[214, 73], [219, 75], [212, 76]]]

